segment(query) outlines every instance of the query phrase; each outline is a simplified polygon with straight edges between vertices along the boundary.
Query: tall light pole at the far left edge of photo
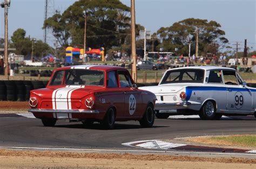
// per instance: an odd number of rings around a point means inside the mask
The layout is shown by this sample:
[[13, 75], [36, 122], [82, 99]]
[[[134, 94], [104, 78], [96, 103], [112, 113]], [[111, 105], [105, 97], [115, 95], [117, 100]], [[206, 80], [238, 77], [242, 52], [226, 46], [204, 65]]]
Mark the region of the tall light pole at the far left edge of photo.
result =
[[4, 75], [8, 76], [8, 3], [4, 1]]

